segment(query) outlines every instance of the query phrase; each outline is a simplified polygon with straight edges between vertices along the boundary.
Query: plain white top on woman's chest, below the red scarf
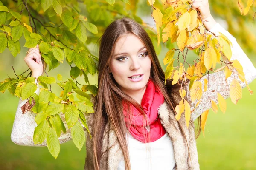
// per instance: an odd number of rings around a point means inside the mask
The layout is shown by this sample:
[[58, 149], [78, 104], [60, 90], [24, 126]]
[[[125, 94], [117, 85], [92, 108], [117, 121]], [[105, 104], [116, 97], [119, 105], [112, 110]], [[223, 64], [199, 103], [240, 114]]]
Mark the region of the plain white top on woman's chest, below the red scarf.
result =
[[[154, 142], [143, 143], [128, 133], [127, 144], [132, 170], [173, 170], [175, 159], [172, 141], [166, 133]], [[125, 170], [124, 158], [117, 170]]]

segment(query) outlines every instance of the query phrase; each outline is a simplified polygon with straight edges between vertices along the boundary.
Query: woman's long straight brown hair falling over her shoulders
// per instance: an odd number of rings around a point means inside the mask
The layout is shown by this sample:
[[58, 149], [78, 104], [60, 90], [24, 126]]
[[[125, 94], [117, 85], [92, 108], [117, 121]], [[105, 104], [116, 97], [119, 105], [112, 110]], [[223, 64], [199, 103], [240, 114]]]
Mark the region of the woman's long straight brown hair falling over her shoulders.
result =
[[[178, 104], [175, 100], [173, 93], [175, 85], [171, 85], [172, 80], [166, 82], [164, 85], [165, 74], [161, 68], [160, 62], [157, 58], [157, 54], [154, 50], [154, 46], [151, 42], [150, 37], [140, 24], [130, 18], [121, 18], [114, 20], [105, 30], [102, 37], [99, 39], [99, 77], [98, 77], [98, 94], [96, 96], [97, 108], [95, 111], [95, 120], [93, 124], [93, 152], [94, 152], [94, 168], [99, 170], [99, 165], [102, 156], [102, 142], [103, 135], [107, 123], [113, 127], [116, 133], [117, 140], [120, 144], [122, 153], [125, 160], [125, 169], [131, 170], [128, 146], [126, 143], [125, 134], [127, 132], [127, 127], [124, 121], [124, 115], [122, 111], [122, 101], [133, 104], [135, 107], [139, 108], [142, 113], [143, 109], [139, 103], [137, 103], [130, 96], [126, 95], [119, 88], [119, 85], [114, 80], [113, 76], [109, 73], [109, 66], [111, 64], [111, 57], [113, 55], [113, 50], [116, 45], [118, 38], [124, 34], [134, 34], [136, 35], [145, 45], [148, 56], [151, 58], [151, 73], [150, 78], [153, 80], [154, 84], [160, 88], [167, 104], [175, 112], [175, 106]], [[180, 122], [179, 122], [180, 125]], [[181, 126], [180, 126], [181, 127]], [[182, 130], [182, 128], [180, 128]], [[183, 132], [185, 137], [185, 133]]]

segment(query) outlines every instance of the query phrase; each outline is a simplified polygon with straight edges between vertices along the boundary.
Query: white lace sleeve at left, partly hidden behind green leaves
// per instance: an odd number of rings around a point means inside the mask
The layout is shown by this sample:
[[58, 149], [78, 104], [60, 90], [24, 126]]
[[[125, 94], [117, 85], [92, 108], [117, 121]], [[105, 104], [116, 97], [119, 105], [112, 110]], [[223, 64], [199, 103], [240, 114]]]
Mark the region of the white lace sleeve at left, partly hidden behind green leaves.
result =
[[[35, 91], [35, 93], [39, 94], [40, 85], [37, 84], [37, 87], [38, 88]], [[26, 113], [22, 114], [21, 106], [23, 106], [25, 103], [26, 103], [26, 100], [22, 100], [20, 98], [14, 123], [13, 123], [13, 127], [12, 127], [12, 133], [11, 133], [12, 142], [18, 145], [25, 145], [25, 146], [47, 146], [46, 140], [44, 140], [44, 142], [41, 144], [34, 144], [33, 135], [34, 135], [35, 127], [37, 127], [37, 123], [35, 122], [36, 113], [32, 111], [30, 112], [26, 111]], [[65, 128], [68, 129], [65, 116], [62, 112], [60, 112], [60, 117], [64, 123]], [[86, 116], [86, 118], [88, 118], [88, 116]], [[79, 122], [81, 123], [80, 119], [79, 119]], [[82, 127], [84, 128], [84, 132], [87, 133], [87, 130], [84, 127], [84, 125], [82, 125]], [[87, 134], [85, 135], [87, 136]], [[68, 129], [66, 133], [63, 133], [61, 131], [61, 135], [59, 137], [60, 144], [67, 142], [71, 139], [72, 137], [71, 137], [70, 129]]]

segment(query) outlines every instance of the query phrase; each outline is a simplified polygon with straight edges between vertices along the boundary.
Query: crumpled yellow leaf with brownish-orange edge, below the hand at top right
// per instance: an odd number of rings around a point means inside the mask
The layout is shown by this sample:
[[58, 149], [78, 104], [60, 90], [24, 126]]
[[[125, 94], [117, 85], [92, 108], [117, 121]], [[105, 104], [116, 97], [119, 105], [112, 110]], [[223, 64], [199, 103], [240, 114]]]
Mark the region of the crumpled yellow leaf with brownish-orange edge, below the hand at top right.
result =
[[200, 47], [204, 43], [204, 37], [197, 30], [193, 31], [186, 42], [186, 47], [190, 50]]

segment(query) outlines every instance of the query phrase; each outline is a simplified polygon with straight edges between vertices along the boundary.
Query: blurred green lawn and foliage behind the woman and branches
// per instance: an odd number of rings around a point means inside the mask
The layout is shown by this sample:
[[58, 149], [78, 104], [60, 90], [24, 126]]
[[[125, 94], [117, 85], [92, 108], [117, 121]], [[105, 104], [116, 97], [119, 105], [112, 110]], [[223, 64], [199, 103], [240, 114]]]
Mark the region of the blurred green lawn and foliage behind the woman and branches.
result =
[[[213, 1], [211, 1], [213, 2]], [[224, 0], [225, 3], [231, 1]], [[236, 1], [232, 0], [233, 3]], [[139, 3], [139, 9], [146, 8], [146, 10], [138, 10], [138, 15], [148, 23], [152, 23], [150, 8], [145, 7], [145, 1]], [[216, 2], [214, 5], [219, 5]], [[237, 4], [237, 3], [236, 3]], [[240, 15], [237, 5], [234, 15]], [[220, 6], [220, 5], [219, 5]], [[221, 7], [222, 9], [226, 7]], [[240, 37], [236, 30], [236, 20], [234, 25], [230, 26], [230, 22], [225, 22], [230, 12], [230, 8], [225, 14], [221, 11], [212, 9], [216, 16], [216, 20], [225, 26], [236, 38], [239, 44], [246, 52], [247, 56], [256, 66], [255, 52], [250, 48], [254, 44], [249, 44], [248, 37]], [[223, 10], [224, 11], [224, 10]], [[222, 12], [223, 12], [222, 11]], [[219, 15], [218, 15], [219, 13]], [[232, 15], [232, 14], [230, 14]], [[242, 17], [242, 16], [241, 16]], [[252, 22], [252, 16], [246, 17], [245, 24], [248, 25], [251, 34], [250, 37], [255, 37], [256, 24]], [[249, 19], [248, 19], [249, 18]], [[230, 20], [230, 18], [229, 18]], [[232, 19], [231, 19], [232, 20]], [[156, 41], [156, 40], [154, 40]], [[23, 58], [26, 55], [27, 48], [23, 45], [25, 40], [21, 40], [22, 46], [20, 54], [16, 58], [12, 56], [8, 49], [0, 54], [0, 81], [4, 78], [15, 77], [12, 66], [15, 68], [16, 74], [21, 74], [28, 69]], [[247, 48], [248, 44], [248, 48]], [[155, 47], [159, 49], [159, 47]], [[91, 52], [97, 55], [97, 46], [91, 45]], [[255, 48], [254, 48], [255, 50]], [[158, 54], [161, 64], [167, 48], [162, 47], [160, 54]], [[190, 62], [195, 59], [195, 54], [189, 52]], [[162, 65], [165, 69], [166, 66]], [[47, 69], [48, 70], [48, 69]], [[49, 76], [55, 77], [58, 73], [63, 76], [63, 79], [69, 78], [70, 66], [64, 62], [58, 68], [50, 71]], [[96, 84], [97, 77], [89, 77], [90, 84]], [[78, 78], [78, 82], [84, 82], [83, 79]], [[250, 95], [247, 88], [243, 89], [242, 99], [239, 100], [237, 105], [234, 105], [230, 98], [227, 99], [227, 111], [225, 115], [219, 111], [217, 114], [210, 111], [206, 123], [205, 137], [201, 133], [197, 139], [198, 157], [201, 170], [256, 170], [256, 80], [250, 83], [251, 90], [254, 95]], [[60, 94], [61, 89], [58, 85], [52, 85], [52, 91]], [[85, 146], [79, 151], [72, 141], [61, 144], [61, 151], [57, 159], [54, 159], [49, 153], [47, 147], [27, 147], [19, 146], [11, 141], [12, 125], [15, 118], [19, 99], [9, 94], [6, 91], [4, 94], [0, 93], [0, 169], [2, 170], [82, 170], [84, 168], [86, 149]]]

